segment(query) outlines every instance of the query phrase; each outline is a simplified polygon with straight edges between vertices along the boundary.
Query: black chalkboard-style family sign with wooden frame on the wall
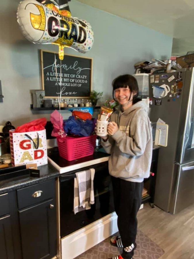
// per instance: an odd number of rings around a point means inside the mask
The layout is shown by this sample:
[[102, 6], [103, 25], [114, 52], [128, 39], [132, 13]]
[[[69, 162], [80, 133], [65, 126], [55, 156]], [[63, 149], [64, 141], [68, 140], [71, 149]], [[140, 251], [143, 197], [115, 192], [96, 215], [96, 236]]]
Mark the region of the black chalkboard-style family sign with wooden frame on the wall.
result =
[[42, 88], [45, 97], [86, 98], [90, 96], [92, 58], [64, 55], [41, 50]]

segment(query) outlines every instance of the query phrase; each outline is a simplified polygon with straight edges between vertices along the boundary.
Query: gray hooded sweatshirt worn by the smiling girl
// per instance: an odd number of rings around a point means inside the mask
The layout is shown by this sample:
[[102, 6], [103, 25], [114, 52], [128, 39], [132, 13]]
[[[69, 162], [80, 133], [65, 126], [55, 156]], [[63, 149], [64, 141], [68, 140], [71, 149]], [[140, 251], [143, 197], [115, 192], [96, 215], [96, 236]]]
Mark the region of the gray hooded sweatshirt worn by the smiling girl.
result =
[[142, 182], [150, 175], [152, 157], [152, 133], [148, 118], [148, 108], [144, 101], [133, 104], [126, 111], [119, 108], [111, 115], [118, 131], [101, 141], [105, 151], [111, 154], [109, 173], [114, 177]]

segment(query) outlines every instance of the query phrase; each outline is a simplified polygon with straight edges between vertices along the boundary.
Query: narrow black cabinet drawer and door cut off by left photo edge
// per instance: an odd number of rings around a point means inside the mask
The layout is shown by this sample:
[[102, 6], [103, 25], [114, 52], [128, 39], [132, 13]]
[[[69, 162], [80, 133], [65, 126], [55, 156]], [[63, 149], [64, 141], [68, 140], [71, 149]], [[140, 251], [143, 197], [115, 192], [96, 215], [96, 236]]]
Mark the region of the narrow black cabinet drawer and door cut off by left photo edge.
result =
[[1, 259], [14, 259], [8, 193], [0, 195], [0, 204], [0, 257]]

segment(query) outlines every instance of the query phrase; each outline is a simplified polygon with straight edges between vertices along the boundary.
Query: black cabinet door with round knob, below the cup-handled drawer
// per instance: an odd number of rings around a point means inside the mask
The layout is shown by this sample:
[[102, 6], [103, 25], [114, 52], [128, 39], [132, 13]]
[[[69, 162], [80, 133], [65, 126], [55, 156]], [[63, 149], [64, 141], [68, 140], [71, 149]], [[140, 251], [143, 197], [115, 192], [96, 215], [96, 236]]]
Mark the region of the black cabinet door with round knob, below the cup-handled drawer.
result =
[[56, 255], [54, 200], [19, 211], [22, 258], [52, 258]]

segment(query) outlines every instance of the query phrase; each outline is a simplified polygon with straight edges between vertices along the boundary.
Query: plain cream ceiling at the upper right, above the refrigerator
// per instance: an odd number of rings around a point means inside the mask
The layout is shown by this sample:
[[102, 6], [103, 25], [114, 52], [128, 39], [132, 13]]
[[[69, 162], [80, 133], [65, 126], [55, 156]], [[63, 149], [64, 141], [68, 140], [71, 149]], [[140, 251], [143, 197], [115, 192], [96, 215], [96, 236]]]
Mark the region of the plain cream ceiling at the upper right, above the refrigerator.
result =
[[194, 50], [194, 0], [77, 0], [173, 37], [172, 55]]

